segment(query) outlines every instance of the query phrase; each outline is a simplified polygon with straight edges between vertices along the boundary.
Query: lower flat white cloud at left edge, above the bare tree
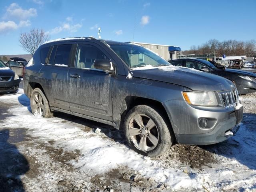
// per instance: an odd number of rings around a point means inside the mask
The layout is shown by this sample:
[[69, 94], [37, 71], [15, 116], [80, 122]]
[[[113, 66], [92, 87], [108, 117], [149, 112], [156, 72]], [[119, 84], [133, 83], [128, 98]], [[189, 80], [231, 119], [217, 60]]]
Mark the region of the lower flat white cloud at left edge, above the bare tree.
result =
[[14, 21], [2, 21], [0, 22], [0, 34], [3, 34], [3, 33], [8, 33], [12, 30], [16, 30], [20, 27], [27, 27], [27, 26], [30, 26], [31, 25], [31, 22], [30, 20], [26, 20], [26, 21], [20, 21], [19, 24], [16, 24]]

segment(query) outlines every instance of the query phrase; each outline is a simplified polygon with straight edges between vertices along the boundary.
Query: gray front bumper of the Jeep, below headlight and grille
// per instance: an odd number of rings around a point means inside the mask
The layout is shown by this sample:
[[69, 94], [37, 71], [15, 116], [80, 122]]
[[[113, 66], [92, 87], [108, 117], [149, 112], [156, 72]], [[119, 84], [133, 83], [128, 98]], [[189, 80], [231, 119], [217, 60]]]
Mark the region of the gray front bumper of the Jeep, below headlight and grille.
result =
[[[171, 100], [164, 103], [171, 120], [176, 141], [181, 144], [207, 145], [222, 142], [234, 135], [242, 121], [243, 106], [225, 109], [222, 107], [196, 107], [185, 101]], [[200, 118], [215, 122], [210, 128], [201, 128]]]

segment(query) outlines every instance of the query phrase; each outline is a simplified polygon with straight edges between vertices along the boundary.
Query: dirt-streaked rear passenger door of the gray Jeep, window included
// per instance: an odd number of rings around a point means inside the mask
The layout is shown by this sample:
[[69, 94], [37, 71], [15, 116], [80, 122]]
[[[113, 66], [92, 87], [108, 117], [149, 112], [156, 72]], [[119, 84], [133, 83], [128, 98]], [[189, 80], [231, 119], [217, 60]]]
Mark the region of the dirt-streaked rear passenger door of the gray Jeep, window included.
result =
[[69, 92], [68, 70], [70, 69], [71, 50], [70, 42], [54, 45], [48, 54], [48, 63], [44, 64], [40, 70], [40, 78], [50, 106], [68, 111], [70, 110], [67, 94]]

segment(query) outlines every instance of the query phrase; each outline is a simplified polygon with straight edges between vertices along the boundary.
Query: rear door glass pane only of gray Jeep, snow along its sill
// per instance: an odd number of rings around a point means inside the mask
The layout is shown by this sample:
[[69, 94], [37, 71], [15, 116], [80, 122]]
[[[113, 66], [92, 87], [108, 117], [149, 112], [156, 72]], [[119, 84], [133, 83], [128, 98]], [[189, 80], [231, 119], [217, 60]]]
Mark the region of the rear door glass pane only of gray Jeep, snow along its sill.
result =
[[59, 45], [55, 54], [54, 65], [69, 66], [72, 44]]

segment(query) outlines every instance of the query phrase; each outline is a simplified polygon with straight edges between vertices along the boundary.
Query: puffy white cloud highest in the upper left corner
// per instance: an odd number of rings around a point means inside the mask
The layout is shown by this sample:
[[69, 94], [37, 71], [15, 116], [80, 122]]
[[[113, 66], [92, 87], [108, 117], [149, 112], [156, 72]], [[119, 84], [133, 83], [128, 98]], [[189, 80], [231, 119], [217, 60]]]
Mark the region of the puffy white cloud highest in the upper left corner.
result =
[[6, 9], [6, 14], [4, 15], [4, 19], [17, 19], [17, 20], [26, 20], [30, 17], [37, 16], [37, 11], [35, 8], [22, 9], [18, 4], [12, 3]]

